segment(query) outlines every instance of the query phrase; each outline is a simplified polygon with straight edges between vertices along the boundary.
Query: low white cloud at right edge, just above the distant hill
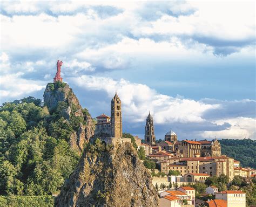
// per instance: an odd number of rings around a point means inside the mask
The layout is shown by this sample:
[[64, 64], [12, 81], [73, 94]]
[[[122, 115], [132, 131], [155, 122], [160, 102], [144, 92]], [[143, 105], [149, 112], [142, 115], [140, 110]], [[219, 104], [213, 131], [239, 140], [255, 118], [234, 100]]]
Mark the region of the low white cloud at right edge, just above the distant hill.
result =
[[256, 119], [238, 117], [214, 121], [217, 125], [230, 123], [231, 127], [220, 131], [205, 131], [200, 135], [205, 138], [221, 137], [222, 139], [254, 139], [256, 137]]

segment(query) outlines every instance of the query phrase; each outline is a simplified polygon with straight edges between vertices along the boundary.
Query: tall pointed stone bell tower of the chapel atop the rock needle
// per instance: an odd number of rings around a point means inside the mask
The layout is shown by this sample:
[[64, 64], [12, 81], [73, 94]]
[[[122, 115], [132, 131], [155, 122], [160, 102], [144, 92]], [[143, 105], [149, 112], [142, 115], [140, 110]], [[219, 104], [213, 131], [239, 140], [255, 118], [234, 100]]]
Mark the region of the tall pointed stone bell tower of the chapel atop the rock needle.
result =
[[123, 136], [121, 100], [119, 99], [117, 92], [111, 100], [111, 136]]

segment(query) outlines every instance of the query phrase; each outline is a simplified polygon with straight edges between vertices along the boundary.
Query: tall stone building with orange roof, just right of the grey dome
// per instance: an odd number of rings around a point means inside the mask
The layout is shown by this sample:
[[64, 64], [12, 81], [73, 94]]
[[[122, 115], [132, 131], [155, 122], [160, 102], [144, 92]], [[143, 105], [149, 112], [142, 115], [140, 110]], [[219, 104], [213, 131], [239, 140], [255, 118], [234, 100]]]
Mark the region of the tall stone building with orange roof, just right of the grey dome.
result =
[[201, 143], [197, 141], [183, 140], [179, 143], [178, 149], [183, 157], [196, 157], [201, 150]]

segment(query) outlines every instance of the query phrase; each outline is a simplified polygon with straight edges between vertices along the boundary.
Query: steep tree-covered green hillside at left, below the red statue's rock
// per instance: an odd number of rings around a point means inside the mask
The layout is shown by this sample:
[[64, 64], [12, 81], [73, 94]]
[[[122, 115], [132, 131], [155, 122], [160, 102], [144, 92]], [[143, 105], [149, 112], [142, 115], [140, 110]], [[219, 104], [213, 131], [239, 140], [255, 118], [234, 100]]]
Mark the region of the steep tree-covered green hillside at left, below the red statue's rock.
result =
[[[57, 94], [64, 85], [52, 84], [49, 93]], [[75, 96], [72, 89], [69, 94]], [[63, 111], [71, 103], [66, 100], [51, 110], [31, 96], [0, 107], [1, 195], [55, 194], [75, 169], [81, 151], [70, 140], [86, 127], [83, 117], [90, 114], [79, 109], [82, 115], [76, 115], [72, 104], [67, 119]]]

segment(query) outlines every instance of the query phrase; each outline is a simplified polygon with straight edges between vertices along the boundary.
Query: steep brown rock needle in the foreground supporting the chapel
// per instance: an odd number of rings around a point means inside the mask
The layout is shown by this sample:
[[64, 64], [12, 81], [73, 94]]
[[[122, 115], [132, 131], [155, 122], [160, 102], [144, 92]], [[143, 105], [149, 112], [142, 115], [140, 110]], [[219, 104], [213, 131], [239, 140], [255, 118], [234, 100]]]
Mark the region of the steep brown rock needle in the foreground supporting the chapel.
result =
[[62, 187], [56, 206], [158, 206], [151, 175], [131, 143], [87, 149]]

